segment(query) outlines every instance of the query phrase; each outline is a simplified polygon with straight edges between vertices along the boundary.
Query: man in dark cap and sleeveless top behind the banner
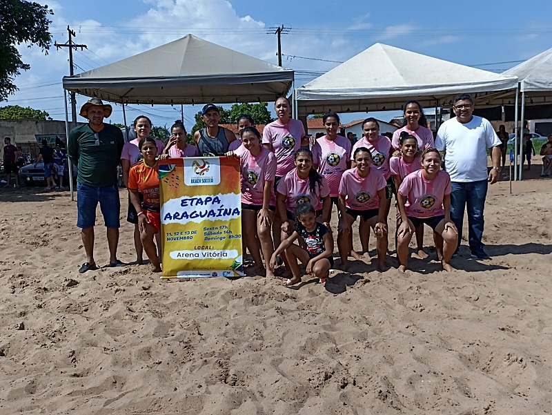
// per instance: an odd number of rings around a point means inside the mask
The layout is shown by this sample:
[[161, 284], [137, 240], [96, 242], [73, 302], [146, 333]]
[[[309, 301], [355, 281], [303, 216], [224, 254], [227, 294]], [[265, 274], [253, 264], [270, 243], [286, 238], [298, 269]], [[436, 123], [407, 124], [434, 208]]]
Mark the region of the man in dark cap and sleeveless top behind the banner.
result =
[[228, 146], [236, 140], [236, 135], [219, 126], [220, 113], [215, 104], [206, 104], [201, 109], [201, 120], [207, 125], [196, 131], [194, 141], [203, 157], [220, 156], [228, 153]]

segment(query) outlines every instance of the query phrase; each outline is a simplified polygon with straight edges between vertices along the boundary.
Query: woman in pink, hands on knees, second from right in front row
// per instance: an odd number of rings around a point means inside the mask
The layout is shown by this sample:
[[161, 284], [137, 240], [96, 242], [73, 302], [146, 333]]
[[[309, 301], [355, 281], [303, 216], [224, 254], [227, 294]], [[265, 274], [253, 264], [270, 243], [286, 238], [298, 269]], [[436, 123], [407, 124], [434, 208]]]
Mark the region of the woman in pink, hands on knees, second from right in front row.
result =
[[358, 147], [353, 153], [355, 167], [347, 170], [339, 183], [339, 229], [337, 247], [341, 256], [341, 269], [348, 269], [348, 254], [352, 251], [350, 233], [360, 216], [361, 223], [370, 226], [376, 235], [377, 268], [385, 268], [387, 253], [387, 221], [384, 173], [372, 165], [368, 148]]

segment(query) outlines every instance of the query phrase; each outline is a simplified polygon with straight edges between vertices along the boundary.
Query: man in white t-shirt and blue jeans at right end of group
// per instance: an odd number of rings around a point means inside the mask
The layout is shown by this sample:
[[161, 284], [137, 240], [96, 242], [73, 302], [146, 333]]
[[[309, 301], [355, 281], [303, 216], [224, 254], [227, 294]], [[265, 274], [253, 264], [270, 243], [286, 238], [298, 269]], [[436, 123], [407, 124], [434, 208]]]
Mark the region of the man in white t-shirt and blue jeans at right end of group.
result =
[[[445, 168], [451, 175], [451, 220], [458, 229], [458, 247], [462, 242], [464, 209], [468, 209], [469, 246], [471, 256], [488, 259], [482, 242], [483, 210], [489, 183], [498, 181], [500, 173], [500, 139], [491, 123], [473, 115], [473, 99], [469, 94], [455, 97], [455, 118], [444, 122], [437, 131], [435, 147], [446, 150]], [[491, 148], [493, 167], [487, 173], [487, 148]]]

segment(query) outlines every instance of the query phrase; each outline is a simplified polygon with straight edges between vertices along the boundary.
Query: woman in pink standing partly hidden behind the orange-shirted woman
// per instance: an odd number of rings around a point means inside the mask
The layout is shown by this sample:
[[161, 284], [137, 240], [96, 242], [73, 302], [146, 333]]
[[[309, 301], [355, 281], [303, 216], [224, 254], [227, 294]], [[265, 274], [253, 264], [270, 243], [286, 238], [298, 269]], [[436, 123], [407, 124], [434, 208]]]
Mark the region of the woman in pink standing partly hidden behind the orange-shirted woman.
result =
[[[127, 142], [123, 146], [123, 152], [121, 153], [121, 168], [122, 168], [122, 175], [123, 175], [123, 184], [125, 187], [128, 187], [128, 173], [130, 172], [130, 168], [132, 166], [136, 166], [141, 162], [141, 159], [143, 157], [141, 151], [139, 150], [139, 143], [140, 140], [146, 137], [150, 136], [151, 133], [151, 120], [146, 117], [146, 115], [139, 115], [135, 118], [134, 122], [132, 123], [134, 132], [136, 133], [136, 138], [132, 139], [132, 141]], [[155, 141], [155, 145], [157, 148], [157, 155], [160, 155], [163, 153], [165, 149], [164, 142], [160, 140]], [[141, 193], [138, 194], [139, 197], [143, 197]], [[134, 204], [130, 201], [130, 193], [128, 194], [128, 209], [127, 209], [127, 215], [126, 215], [126, 221], [134, 224], [134, 247], [136, 250], [136, 263], [137, 264], [143, 264], [144, 263], [144, 255], [143, 255], [143, 247], [142, 242], [140, 238], [140, 231], [138, 229], [138, 212], [134, 208]], [[159, 235], [160, 237], [160, 235]], [[159, 244], [159, 247], [161, 246]]]

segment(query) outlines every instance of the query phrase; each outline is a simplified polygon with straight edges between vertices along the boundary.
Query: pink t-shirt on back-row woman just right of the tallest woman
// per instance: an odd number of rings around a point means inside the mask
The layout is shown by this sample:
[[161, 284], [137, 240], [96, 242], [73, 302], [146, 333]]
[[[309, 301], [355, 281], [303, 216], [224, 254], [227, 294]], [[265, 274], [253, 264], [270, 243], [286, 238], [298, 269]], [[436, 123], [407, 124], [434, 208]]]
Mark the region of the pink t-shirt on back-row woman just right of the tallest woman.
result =
[[341, 135], [337, 135], [335, 141], [324, 135], [316, 140], [312, 151], [313, 163], [318, 165], [318, 173], [328, 180], [330, 196], [339, 196], [339, 182], [351, 158], [351, 142]]

